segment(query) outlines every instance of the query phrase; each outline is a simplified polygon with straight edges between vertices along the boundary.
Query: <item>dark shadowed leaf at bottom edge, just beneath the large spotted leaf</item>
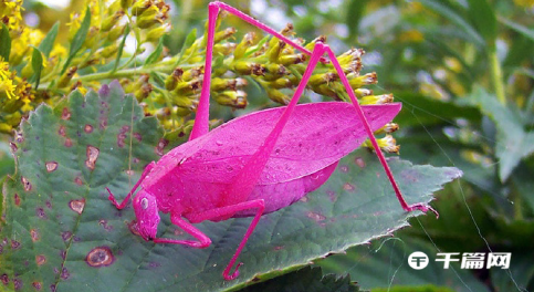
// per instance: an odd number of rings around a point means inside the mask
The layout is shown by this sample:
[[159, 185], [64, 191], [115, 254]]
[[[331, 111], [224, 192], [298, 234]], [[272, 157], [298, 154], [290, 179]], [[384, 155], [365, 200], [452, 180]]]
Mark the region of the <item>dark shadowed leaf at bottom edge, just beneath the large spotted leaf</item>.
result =
[[350, 283], [350, 277], [337, 277], [336, 274], [326, 274], [323, 277], [322, 269], [318, 267], [305, 267], [301, 270], [240, 290], [240, 292], [268, 291], [358, 292], [360, 290], [357, 285]]

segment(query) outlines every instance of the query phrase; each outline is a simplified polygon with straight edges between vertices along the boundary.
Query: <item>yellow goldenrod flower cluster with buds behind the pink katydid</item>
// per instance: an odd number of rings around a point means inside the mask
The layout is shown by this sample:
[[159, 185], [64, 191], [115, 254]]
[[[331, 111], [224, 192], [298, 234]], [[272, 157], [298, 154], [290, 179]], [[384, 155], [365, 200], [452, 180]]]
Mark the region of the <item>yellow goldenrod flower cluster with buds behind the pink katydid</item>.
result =
[[[0, 17], [9, 24], [12, 48], [9, 63], [0, 63], [0, 131], [9, 133], [38, 103], [54, 103], [73, 90], [84, 93], [114, 79], [119, 79], [125, 92], [134, 94], [144, 106], [145, 114], [157, 116], [167, 131], [190, 127], [205, 75], [207, 38], [190, 35], [179, 54], [169, 55], [161, 42], [170, 31], [170, 7], [164, 0], [86, 0], [83, 11], [70, 15], [70, 44], [53, 42], [42, 50], [43, 64], [38, 72], [31, 46], [40, 48], [45, 34], [23, 25], [21, 4], [20, 0], [0, 2]], [[276, 38], [261, 38], [254, 32], [237, 40], [234, 28], [220, 28], [224, 17], [222, 13], [219, 18], [214, 36], [212, 100], [244, 108], [245, 88], [252, 82], [274, 103], [287, 104], [306, 69], [307, 56]], [[307, 43], [294, 38], [291, 24], [281, 33], [307, 50], [326, 41], [325, 36]], [[127, 35], [135, 39], [129, 53], [123, 50], [128, 45]], [[139, 55], [146, 43], [155, 50], [143, 60]], [[363, 50], [352, 49], [338, 55], [356, 96], [362, 104], [390, 103], [390, 94], [374, 95], [365, 88], [377, 77], [375, 73], [360, 74], [363, 54]], [[308, 88], [348, 101], [332, 64], [317, 64]], [[381, 132], [390, 133], [392, 128]], [[379, 144], [387, 152], [398, 150], [390, 136], [379, 139]]]

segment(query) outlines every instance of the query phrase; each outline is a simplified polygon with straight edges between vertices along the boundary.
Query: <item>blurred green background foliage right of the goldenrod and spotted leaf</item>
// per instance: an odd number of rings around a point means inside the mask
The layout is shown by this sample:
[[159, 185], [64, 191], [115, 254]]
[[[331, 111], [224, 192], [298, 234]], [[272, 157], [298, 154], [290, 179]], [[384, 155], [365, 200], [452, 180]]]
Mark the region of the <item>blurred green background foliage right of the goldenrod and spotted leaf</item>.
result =
[[[59, 2], [25, 1], [25, 17], [46, 31], [56, 20], [67, 22], [64, 11], [80, 10], [81, 2], [57, 8]], [[166, 39], [171, 52], [179, 52], [193, 28], [203, 31], [208, 2], [172, 2]], [[350, 273], [373, 291], [534, 290], [534, 1], [227, 2], [278, 29], [292, 22], [306, 40], [327, 35], [338, 53], [363, 48], [363, 72], [378, 74], [375, 93], [394, 93], [404, 104], [395, 119], [400, 156], [464, 173], [437, 194], [432, 205], [439, 219], [413, 218], [412, 228], [316, 264]], [[252, 30], [237, 18], [227, 18], [223, 27], [235, 27], [238, 35]], [[249, 86], [249, 101], [245, 111], [253, 111], [265, 97]], [[0, 143], [1, 177], [13, 173], [9, 139]], [[427, 269], [407, 265], [415, 250], [429, 255]], [[444, 270], [434, 261], [438, 252], [490, 251], [512, 252], [510, 270], [462, 270], [460, 264]]]

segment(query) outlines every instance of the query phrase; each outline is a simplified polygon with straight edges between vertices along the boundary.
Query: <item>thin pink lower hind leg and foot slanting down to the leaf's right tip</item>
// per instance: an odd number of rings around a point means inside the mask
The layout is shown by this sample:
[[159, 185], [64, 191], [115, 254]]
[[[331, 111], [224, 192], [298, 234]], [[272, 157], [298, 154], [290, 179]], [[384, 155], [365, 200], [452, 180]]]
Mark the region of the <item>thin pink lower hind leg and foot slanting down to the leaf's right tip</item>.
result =
[[384, 170], [386, 171], [386, 175], [387, 175], [389, 181], [391, 182], [391, 186], [395, 190], [397, 199], [399, 200], [402, 209], [405, 209], [406, 211], [420, 210], [420, 211], [423, 211], [423, 212], [427, 212], [427, 211], [430, 210], [430, 211], [434, 212], [436, 216], [438, 217], [439, 213], [434, 209], [432, 209], [432, 207], [428, 206], [427, 204], [418, 202], [418, 204], [413, 204], [413, 205], [408, 205], [406, 202], [406, 200], [402, 196], [402, 192], [400, 191], [400, 188], [397, 184], [397, 180], [395, 179], [394, 174], [392, 174], [391, 169], [389, 168], [389, 165], [386, 160], [386, 157], [384, 156], [384, 153], [381, 152], [380, 147], [378, 146], [378, 143], [375, 138], [375, 135], [373, 134], [373, 131], [371, 131], [370, 125], [369, 125], [369, 123], [368, 123], [368, 121], [367, 121], [367, 118], [364, 114], [364, 111], [359, 106], [358, 100], [356, 98], [356, 95], [354, 94], [354, 91], [352, 90], [350, 84], [348, 83], [348, 80], [345, 76], [345, 73], [343, 72], [342, 66], [339, 65], [339, 62], [337, 61], [336, 55], [334, 54], [332, 49], [327, 45], [325, 45], [325, 51], [328, 54], [329, 60], [332, 61], [334, 67], [336, 69], [337, 74], [339, 75], [339, 79], [341, 79], [343, 85], [345, 86], [345, 90], [346, 90], [348, 96], [350, 97], [350, 102], [353, 103], [354, 108], [356, 109], [358, 117], [362, 119], [362, 124], [364, 125], [365, 131], [367, 132], [367, 135], [368, 135], [368, 137], [369, 137], [369, 139], [370, 139], [370, 142], [371, 142], [371, 144], [375, 148], [376, 155], [378, 156], [378, 159], [380, 160], [380, 164], [383, 165]]

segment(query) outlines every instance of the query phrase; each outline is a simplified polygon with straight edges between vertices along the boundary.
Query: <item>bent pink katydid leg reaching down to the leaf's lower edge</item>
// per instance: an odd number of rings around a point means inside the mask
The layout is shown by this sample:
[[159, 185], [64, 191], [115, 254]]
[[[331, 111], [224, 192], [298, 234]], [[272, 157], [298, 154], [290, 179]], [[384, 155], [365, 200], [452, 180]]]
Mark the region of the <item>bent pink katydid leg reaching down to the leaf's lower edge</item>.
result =
[[243, 236], [243, 239], [239, 243], [238, 249], [235, 250], [235, 253], [233, 254], [232, 259], [228, 263], [227, 268], [222, 272], [222, 277], [224, 280], [230, 281], [239, 275], [239, 267], [241, 267], [243, 263], [240, 262], [235, 267], [235, 270], [231, 272], [233, 265], [235, 264], [235, 261], [238, 260], [239, 254], [241, 253], [241, 250], [243, 249], [244, 244], [247, 244], [247, 241], [249, 240], [249, 237], [252, 234], [254, 231], [255, 226], [261, 219], [261, 216], [263, 215], [263, 210], [265, 209], [265, 204], [263, 199], [258, 199], [258, 200], [250, 200], [250, 201], [243, 201], [237, 205], [231, 205], [231, 206], [226, 206], [222, 208], [217, 208], [212, 209], [209, 211], [205, 211], [201, 213], [189, 213], [187, 215], [187, 218], [191, 222], [201, 222], [205, 220], [211, 220], [216, 219], [219, 220], [221, 218], [227, 218], [227, 217], [232, 217], [234, 213], [242, 211], [242, 210], [249, 210], [249, 209], [256, 209], [256, 213], [254, 218], [252, 219], [252, 222], [250, 223], [249, 228], [247, 229], [247, 232]]

